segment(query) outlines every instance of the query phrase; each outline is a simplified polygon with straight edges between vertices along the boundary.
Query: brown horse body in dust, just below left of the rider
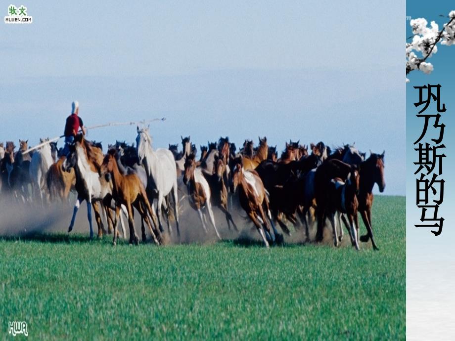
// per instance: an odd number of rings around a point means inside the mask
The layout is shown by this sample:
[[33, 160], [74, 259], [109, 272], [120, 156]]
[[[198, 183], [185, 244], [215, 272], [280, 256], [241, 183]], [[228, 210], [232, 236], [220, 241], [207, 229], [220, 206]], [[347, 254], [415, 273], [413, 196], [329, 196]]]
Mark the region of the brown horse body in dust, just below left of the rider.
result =
[[46, 184], [50, 200], [58, 198], [63, 201], [68, 199], [70, 191], [76, 189], [76, 174], [74, 173], [74, 169], [63, 171], [62, 165], [65, 160], [66, 156], [61, 156], [56, 163], [50, 166], [49, 171], [47, 171]]

